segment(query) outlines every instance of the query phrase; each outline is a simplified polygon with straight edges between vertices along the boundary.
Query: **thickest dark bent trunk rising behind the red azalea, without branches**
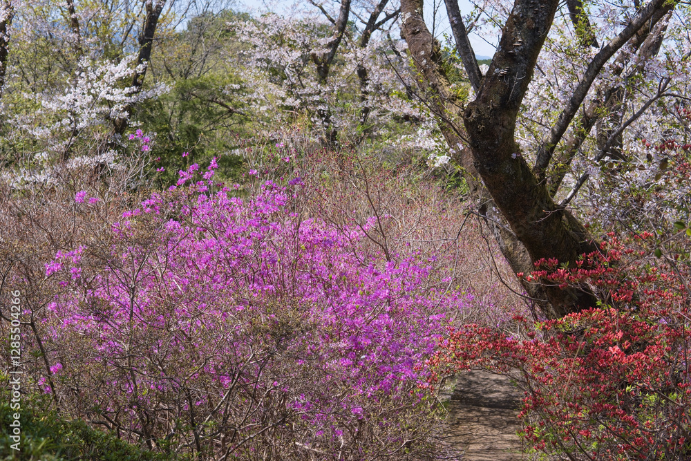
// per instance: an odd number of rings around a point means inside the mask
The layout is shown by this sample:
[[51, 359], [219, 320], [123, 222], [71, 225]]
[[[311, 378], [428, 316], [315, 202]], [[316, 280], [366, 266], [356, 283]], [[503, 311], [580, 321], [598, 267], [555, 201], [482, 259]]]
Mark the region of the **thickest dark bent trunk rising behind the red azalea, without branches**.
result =
[[[516, 117], [558, 0], [515, 2], [502, 39], [475, 100], [463, 118], [475, 167], [498, 208], [533, 261], [556, 258], [576, 267], [582, 254], [598, 250], [585, 227], [558, 207], [538, 182], [515, 142]], [[586, 287], [544, 285], [558, 315], [596, 305]]]

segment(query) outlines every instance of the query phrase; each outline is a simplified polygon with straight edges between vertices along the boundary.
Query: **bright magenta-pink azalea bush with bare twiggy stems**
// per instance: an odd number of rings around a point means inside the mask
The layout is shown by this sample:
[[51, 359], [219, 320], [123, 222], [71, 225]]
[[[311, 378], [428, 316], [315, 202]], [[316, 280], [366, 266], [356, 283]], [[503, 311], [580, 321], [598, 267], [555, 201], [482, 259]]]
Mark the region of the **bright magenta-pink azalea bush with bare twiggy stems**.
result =
[[152, 449], [431, 457], [422, 365], [471, 299], [420, 254], [363, 250], [374, 219], [302, 217], [301, 180], [240, 200], [214, 166], [46, 265], [63, 288], [44, 319], [61, 364], [46, 392]]

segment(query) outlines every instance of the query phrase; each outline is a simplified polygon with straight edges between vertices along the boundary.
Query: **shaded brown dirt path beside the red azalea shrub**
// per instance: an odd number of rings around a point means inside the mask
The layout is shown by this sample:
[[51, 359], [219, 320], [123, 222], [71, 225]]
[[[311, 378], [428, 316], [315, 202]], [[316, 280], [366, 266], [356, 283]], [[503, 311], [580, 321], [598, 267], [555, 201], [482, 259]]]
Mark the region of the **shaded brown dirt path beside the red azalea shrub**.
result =
[[504, 376], [473, 370], [457, 375], [446, 441], [462, 461], [527, 460], [516, 420], [518, 393]]

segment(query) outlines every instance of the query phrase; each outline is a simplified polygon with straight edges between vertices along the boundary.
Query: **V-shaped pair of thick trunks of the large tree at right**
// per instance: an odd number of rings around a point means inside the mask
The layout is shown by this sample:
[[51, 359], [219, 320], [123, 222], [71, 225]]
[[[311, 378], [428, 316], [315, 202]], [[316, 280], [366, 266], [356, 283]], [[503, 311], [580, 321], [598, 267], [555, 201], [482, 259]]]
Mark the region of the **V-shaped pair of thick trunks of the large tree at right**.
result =
[[[500, 44], [500, 50], [512, 53], [498, 52], [482, 79], [477, 99], [465, 111], [439, 66], [439, 47], [422, 19], [422, 0], [401, 1], [401, 17], [410, 54], [421, 70], [422, 87], [431, 93], [428, 99], [435, 104], [442, 133], [468, 172], [471, 188], [485, 197], [480, 210], [488, 211], [488, 223], [493, 225], [513, 270], [531, 272], [533, 262], [540, 258], [558, 258], [573, 266], [580, 254], [597, 247], [578, 220], [556, 207], [517, 155], [520, 149], [513, 133], [518, 108], [558, 2], [536, 3], [534, 8], [517, 3]], [[468, 140], [469, 149], [460, 149], [465, 144], [463, 138]], [[547, 284], [524, 283], [524, 288], [538, 299], [549, 300], [539, 305], [551, 318], [596, 304], [587, 287], [560, 290]]]

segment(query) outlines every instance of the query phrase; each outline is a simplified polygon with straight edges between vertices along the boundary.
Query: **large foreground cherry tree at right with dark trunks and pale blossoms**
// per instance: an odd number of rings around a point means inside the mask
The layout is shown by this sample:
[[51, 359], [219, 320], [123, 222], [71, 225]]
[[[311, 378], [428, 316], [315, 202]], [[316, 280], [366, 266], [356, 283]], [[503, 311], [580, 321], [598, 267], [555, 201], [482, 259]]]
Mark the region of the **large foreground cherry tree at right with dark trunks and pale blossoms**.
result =
[[[480, 212], [495, 223], [516, 272], [530, 270], [540, 258], [573, 266], [580, 255], [597, 249], [594, 237], [567, 208], [590, 176], [578, 175], [578, 167], [625, 163], [621, 146], [627, 133], [634, 133], [630, 126], [659, 100], [683, 100], [685, 72], [675, 63], [688, 59], [687, 41], [676, 36], [663, 59], [656, 55], [668, 26], [683, 27], [688, 11], [662, 0], [616, 7], [567, 2], [568, 14], [555, 19], [558, 2], [515, 1], [511, 8], [497, 2], [493, 20], [502, 28], [501, 40], [483, 76], [457, 3], [446, 4], [459, 55], [476, 88], [473, 100], [457, 97], [449, 85], [422, 1], [401, 2], [401, 29], [422, 75], [419, 83], [431, 93], [428, 104], [481, 197]], [[589, 10], [597, 13], [590, 19]], [[584, 142], [591, 139], [591, 129], [597, 132], [594, 155], [572, 164], [589, 146]], [[632, 156], [626, 161], [635, 163]], [[567, 173], [576, 173], [576, 181], [565, 183]], [[550, 317], [598, 301], [587, 285], [524, 287], [542, 297]]]

